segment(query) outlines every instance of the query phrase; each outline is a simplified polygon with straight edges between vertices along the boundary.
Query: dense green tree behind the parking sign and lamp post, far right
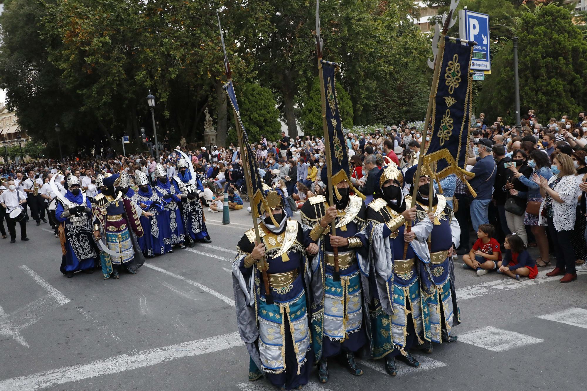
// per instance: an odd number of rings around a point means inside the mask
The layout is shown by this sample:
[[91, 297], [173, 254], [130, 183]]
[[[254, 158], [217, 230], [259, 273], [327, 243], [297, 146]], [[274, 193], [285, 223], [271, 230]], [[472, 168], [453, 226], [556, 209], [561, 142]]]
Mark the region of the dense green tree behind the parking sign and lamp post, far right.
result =
[[[586, 107], [587, 42], [568, 9], [537, 8], [517, 23], [521, 112], [536, 110], [542, 123]], [[494, 58], [492, 76], [479, 102], [488, 117], [514, 118], [513, 53], [509, 42]]]

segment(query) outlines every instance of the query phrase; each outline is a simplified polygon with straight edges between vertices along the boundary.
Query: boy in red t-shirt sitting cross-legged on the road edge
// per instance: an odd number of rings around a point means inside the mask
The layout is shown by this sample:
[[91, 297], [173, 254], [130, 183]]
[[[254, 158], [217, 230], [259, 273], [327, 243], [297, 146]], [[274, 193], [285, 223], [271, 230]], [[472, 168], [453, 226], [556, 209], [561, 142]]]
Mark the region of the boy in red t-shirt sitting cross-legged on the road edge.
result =
[[479, 225], [477, 241], [471, 251], [463, 255], [463, 269], [473, 269], [481, 276], [497, 268], [497, 262], [501, 261], [501, 249], [497, 240], [492, 238], [494, 231], [491, 224]]

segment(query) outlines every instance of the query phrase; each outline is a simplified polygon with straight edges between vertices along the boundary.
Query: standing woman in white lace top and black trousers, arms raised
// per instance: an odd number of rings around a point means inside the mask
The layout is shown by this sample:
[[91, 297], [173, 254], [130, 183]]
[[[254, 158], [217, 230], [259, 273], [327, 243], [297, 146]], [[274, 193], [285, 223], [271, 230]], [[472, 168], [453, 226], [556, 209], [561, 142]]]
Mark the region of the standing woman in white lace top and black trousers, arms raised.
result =
[[571, 243], [571, 231], [575, 227], [575, 207], [579, 193], [579, 184], [575, 179], [575, 166], [571, 157], [559, 153], [552, 159], [554, 175], [546, 181], [536, 174], [532, 180], [540, 186], [540, 194], [544, 197], [540, 205], [538, 224], [548, 221], [548, 234], [556, 254], [556, 267], [546, 273], [548, 277], [564, 275], [561, 282], [571, 282], [577, 278], [575, 271], [575, 253]]

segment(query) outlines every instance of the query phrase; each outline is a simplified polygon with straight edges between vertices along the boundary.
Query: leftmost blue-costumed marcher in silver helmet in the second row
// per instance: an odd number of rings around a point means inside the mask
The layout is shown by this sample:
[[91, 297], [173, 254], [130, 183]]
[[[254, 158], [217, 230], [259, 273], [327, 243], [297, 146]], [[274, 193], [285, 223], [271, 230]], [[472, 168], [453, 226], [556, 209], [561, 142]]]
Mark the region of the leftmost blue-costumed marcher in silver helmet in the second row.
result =
[[[55, 187], [56, 183], [53, 183]], [[56, 191], [59, 191], [56, 188]], [[53, 191], [56, 194], [55, 190]], [[92, 204], [82, 193], [80, 181], [75, 176], [68, 177], [68, 191], [57, 195], [58, 203], [55, 218], [59, 221], [59, 238], [63, 252], [60, 271], [68, 278], [76, 271], [92, 274], [97, 265], [98, 252], [92, 238]]]

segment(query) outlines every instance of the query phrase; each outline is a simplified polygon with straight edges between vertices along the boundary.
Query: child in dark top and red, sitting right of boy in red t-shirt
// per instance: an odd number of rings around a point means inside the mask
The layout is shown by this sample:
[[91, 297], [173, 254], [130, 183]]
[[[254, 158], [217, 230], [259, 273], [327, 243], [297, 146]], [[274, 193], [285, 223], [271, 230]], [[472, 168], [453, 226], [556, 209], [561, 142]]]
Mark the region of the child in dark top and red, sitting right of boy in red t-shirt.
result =
[[518, 281], [520, 276], [528, 277], [529, 279], [536, 278], [538, 274], [536, 261], [532, 259], [524, 247], [522, 238], [518, 235], [507, 235], [505, 237], [504, 247], [506, 249], [504, 261], [497, 262], [500, 268], [498, 273], [507, 274]]

